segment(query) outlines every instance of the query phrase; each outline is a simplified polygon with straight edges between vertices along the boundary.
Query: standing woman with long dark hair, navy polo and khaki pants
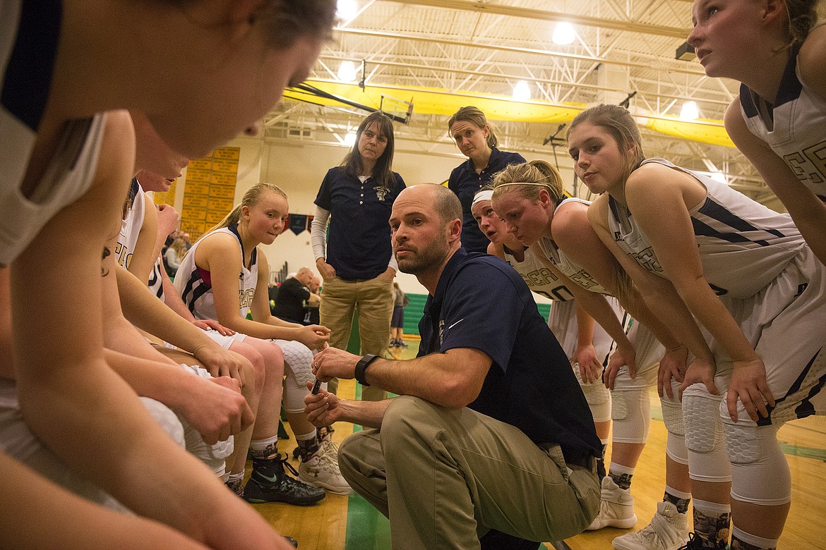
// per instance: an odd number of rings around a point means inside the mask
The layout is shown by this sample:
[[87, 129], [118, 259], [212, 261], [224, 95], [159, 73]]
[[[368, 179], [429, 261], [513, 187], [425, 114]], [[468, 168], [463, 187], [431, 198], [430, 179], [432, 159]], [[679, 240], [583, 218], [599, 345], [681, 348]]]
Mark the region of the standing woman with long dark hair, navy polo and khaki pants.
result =
[[[330, 346], [347, 349], [358, 306], [361, 353], [382, 355], [390, 341], [396, 260], [390, 243], [390, 210], [405, 182], [393, 164], [393, 125], [387, 115], [368, 115], [356, 143], [340, 166], [330, 168], [316, 196], [312, 247], [324, 278], [321, 322], [329, 327]], [[330, 242], [326, 242], [330, 219]], [[330, 391], [335, 392], [335, 383]], [[363, 388], [363, 399], [387, 397]]]

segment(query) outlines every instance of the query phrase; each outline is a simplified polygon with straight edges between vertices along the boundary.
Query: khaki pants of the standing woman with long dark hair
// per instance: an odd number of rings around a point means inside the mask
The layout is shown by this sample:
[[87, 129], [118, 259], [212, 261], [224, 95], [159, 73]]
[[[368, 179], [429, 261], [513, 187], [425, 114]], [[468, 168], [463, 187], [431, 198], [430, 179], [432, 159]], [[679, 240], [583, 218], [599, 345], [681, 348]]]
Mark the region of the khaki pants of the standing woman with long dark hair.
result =
[[[358, 307], [358, 334], [361, 353], [383, 356], [390, 343], [390, 319], [393, 315], [393, 283], [379, 278], [371, 280], [325, 279], [321, 289], [319, 315], [321, 324], [330, 328], [330, 346], [346, 350]], [[328, 389], [335, 393], [338, 380], [330, 380]], [[365, 401], [381, 401], [387, 393], [369, 386], [362, 389]]]

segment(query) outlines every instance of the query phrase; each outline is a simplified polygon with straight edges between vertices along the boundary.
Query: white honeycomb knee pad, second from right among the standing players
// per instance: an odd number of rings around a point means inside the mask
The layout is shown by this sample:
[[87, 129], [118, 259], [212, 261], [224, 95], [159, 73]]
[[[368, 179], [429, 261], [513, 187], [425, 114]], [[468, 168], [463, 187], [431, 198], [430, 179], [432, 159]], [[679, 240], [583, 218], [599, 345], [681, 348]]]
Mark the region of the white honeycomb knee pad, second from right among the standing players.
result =
[[729, 458], [719, 406], [723, 397], [711, 395], [702, 383], [691, 384], [682, 394], [682, 419], [686, 431], [689, 473], [700, 482], [728, 482]]

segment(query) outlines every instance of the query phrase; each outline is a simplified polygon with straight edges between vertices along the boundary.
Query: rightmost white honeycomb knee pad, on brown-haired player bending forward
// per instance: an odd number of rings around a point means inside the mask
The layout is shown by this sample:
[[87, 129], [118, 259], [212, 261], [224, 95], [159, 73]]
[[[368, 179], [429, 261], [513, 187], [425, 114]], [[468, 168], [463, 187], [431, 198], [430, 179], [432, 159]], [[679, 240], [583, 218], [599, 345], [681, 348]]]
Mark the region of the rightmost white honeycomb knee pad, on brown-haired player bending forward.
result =
[[777, 443], [774, 425], [757, 426], [750, 421], [723, 421], [729, 459], [731, 494], [738, 501], [762, 506], [791, 501], [791, 475], [786, 457]]

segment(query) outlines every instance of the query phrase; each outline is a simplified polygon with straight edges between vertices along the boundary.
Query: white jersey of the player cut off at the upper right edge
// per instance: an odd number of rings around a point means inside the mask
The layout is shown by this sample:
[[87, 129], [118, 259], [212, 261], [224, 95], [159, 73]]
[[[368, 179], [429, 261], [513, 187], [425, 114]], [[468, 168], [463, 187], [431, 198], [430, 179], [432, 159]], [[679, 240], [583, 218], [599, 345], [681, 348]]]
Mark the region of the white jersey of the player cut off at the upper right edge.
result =
[[742, 84], [740, 112], [752, 134], [826, 201], [826, 99], [800, 77], [797, 49], [790, 52], [774, 105]]

